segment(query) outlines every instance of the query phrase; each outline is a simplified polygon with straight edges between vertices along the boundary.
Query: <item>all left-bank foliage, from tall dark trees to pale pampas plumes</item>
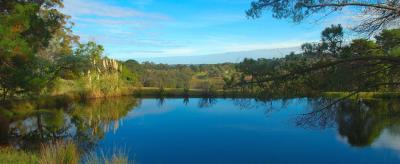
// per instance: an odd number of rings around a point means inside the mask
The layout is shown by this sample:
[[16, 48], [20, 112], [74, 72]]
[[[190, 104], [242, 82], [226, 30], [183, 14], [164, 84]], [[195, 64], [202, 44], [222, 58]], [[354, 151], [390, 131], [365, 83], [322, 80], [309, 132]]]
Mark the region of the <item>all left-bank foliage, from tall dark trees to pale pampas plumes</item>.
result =
[[[62, 1], [0, 2], [0, 93], [2, 100], [52, 95], [58, 82], [73, 81], [85, 97], [126, 94], [136, 73], [104, 55], [95, 42], [79, 43]], [[107, 85], [107, 86], [105, 86]], [[76, 90], [76, 89], [75, 89]], [[129, 92], [130, 89], [126, 89]], [[59, 94], [66, 94], [59, 93]]]

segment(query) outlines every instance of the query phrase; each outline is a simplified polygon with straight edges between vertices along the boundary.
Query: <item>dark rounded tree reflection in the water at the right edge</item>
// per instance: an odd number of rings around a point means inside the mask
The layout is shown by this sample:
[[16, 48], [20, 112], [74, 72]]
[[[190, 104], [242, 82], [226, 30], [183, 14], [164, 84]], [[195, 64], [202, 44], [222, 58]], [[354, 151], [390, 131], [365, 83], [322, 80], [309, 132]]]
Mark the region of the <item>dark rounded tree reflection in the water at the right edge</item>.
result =
[[345, 100], [329, 106], [331, 100], [310, 102], [314, 111], [297, 118], [307, 128], [337, 127], [338, 133], [352, 146], [369, 146], [385, 128], [400, 124], [400, 103], [396, 100]]

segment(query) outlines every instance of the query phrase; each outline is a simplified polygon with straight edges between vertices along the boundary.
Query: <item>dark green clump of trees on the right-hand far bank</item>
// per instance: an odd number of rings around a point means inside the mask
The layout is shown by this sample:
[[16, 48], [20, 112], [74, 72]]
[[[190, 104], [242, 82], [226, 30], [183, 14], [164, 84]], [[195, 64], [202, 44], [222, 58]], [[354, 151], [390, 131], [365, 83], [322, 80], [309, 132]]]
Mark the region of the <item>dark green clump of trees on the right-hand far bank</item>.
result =
[[[355, 39], [343, 46], [340, 25], [331, 26], [324, 30], [320, 43], [304, 44], [303, 53], [277, 59], [245, 59], [237, 66], [241, 78], [235, 82], [226, 79], [226, 85], [247, 90], [256, 87], [263, 94], [282, 96], [330, 91], [393, 92], [400, 83], [398, 31], [385, 30], [376, 42]], [[321, 51], [324, 45], [328, 51]]]

